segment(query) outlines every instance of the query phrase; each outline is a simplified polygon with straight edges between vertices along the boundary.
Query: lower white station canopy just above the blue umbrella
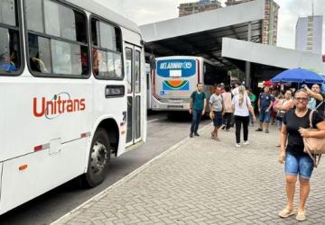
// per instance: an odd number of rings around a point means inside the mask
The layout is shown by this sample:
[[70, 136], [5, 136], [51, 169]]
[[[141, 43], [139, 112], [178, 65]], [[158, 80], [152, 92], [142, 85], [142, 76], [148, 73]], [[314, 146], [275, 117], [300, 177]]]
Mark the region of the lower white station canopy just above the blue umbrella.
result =
[[306, 51], [224, 38], [221, 56], [243, 71], [246, 61], [250, 61], [258, 80], [270, 79], [287, 68], [305, 68], [325, 75], [321, 55]]

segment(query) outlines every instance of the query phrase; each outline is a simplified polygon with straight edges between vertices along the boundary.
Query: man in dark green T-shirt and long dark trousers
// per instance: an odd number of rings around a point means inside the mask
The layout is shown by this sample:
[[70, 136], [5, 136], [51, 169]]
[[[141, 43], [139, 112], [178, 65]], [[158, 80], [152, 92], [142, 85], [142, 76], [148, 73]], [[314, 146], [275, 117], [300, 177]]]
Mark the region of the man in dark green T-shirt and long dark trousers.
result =
[[198, 83], [197, 90], [190, 94], [190, 114], [192, 115], [192, 121], [190, 125], [190, 138], [200, 136], [198, 133], [200, 120], [202, 115], [205, 114], [207, 108], [207, 94], [203, 92], [202, 83]]

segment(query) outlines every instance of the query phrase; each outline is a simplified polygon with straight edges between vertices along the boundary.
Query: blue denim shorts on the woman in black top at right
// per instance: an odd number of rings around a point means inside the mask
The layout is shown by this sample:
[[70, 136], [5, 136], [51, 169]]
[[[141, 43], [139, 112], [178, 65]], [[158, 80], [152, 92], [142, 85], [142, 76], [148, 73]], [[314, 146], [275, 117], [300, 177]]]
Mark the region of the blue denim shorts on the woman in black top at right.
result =
[[311, 157], [302, 154], [292, 154], [287, 151], [285, 154], [285, 175], [299, 175], [304, 179], [310, 179], [313, 170]]

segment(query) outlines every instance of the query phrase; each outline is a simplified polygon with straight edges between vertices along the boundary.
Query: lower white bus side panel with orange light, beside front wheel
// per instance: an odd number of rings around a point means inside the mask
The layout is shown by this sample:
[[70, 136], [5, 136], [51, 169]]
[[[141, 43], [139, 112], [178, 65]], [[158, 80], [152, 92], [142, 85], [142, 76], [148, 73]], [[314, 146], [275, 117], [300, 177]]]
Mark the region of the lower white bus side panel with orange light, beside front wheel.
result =
[[[88, 139], [78, 139], [61, 145], [60, 152], [50, 155], [50, 149], [17, 157], [4, 162], [0, 213], [27, 202], [52, 188], [81, 175]], [[27, 166], [20, 170], [20, 166]]]

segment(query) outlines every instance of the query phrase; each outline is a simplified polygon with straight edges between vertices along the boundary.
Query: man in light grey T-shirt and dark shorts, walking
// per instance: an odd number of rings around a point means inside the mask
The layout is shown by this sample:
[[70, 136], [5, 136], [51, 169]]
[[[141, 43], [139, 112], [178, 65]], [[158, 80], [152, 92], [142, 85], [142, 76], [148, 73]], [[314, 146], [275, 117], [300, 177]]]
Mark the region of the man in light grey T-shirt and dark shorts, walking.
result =
[[224, 107], [224, 101], [221, 95], [221, 87], [216, 87], [216, 92], [210, 96], [209, 110], [214, 113], [213, 126], [214, 130], [211, 132], [211, 138], [220, 141], [218, 138], [218, 129], [222, 125], [222, 111]]

